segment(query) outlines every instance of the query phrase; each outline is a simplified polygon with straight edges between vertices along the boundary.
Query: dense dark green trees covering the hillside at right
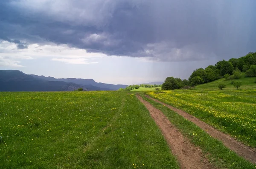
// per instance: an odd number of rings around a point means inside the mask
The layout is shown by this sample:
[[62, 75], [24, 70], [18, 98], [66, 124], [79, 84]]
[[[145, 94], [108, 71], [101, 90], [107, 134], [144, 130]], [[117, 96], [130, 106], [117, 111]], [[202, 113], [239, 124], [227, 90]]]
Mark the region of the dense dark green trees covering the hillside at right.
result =
[[162, 85], [163, 90], [189, 88], [191, 86], [209, 83], [217, 79], [239, 79], [241, 72], [246, 77], [256, 77], [256, 52], [249, 52], [240, 58], [231, 58], [228, 61], [222, 60], [207, 68], [199, 68], [193, 71], [189, 79], [167, 77]]

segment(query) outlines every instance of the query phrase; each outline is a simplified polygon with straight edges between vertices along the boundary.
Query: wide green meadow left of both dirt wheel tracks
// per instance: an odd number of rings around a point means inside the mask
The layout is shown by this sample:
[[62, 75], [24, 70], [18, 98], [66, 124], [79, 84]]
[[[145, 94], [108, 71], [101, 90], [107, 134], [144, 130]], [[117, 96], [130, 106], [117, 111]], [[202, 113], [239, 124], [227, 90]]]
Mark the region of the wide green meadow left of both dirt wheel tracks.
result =
[[0, 168], [179, 168], [128, 92], [3, 92], [0, 107]]

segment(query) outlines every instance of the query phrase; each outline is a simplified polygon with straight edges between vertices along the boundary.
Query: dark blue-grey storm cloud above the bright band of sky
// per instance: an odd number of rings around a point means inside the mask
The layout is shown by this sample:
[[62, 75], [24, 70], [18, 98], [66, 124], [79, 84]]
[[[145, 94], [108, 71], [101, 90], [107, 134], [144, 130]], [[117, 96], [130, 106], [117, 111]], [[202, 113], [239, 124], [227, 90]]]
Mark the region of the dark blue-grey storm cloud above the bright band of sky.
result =
[[254, 0], [3, 0], [0, 39], [159, 61], [256, 51]]

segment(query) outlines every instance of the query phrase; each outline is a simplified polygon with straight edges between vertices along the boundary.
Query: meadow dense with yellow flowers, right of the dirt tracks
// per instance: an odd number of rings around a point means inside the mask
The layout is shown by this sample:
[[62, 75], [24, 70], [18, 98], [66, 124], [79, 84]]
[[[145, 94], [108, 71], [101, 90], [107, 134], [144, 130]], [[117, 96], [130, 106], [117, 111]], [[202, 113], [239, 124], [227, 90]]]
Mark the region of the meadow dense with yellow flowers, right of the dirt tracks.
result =
[[172, 90], [147, 94], [256, 147], [256, 90]]

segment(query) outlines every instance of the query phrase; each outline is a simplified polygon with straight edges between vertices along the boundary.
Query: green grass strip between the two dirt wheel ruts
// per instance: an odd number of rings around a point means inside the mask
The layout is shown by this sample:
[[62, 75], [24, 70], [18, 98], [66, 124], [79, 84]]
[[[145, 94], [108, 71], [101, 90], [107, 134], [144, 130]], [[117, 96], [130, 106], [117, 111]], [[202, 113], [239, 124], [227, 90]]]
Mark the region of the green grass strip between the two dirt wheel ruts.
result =
[[210, 163], [216, 167], [229, 169], [255, 169], [256, 165], [239, 157], [235, 152], [225, 147], [221, 141], [212, 138], [207, 132], [196, 126], [194, 123], [183, 118], [181, 115], [178, 115], [168, 107], [148, 99], [144, 94], [141, 94], [140, 96], [154, 107], [161, 110], [184, 136], [195, 144], [195, 146], [201, 148], [204, 155], [208, 157]]

